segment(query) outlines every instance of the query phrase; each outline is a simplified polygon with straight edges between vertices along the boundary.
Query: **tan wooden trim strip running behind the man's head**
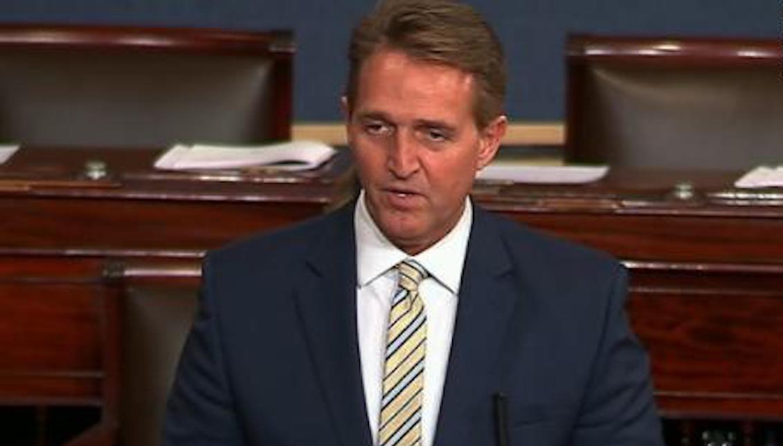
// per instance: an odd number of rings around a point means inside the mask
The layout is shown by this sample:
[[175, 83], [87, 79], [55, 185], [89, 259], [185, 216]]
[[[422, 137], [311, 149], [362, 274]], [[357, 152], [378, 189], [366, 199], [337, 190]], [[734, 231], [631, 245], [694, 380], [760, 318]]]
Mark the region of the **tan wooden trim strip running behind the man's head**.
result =
[[[565, 126], [560, 122], [511, 122], [503, 138], [508, 146], [561, 146]], [[291, 139], [314, 139], [345, 146], [345, 124], [340, 122], [299, 122], [291, 126]]]

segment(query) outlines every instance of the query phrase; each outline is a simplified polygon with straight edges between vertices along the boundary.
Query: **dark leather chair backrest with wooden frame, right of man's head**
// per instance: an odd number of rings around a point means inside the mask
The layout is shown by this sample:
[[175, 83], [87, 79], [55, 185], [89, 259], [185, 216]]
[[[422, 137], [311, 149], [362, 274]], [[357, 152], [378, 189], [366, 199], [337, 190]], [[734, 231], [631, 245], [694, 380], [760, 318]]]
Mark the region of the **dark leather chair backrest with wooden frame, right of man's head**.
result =
[[783, 162], [780, 41], [568, 39], [565, 158], [630, 167]]

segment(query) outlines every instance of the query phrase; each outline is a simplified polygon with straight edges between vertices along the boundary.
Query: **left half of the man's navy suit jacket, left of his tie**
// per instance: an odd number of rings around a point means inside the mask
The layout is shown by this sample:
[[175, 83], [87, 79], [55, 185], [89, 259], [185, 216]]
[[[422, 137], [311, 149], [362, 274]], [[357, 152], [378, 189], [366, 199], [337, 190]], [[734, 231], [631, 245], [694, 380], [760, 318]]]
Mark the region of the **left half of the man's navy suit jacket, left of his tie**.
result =
[[345, 207], [207, 254], [164, 444], [370, 444], [352, 216]]

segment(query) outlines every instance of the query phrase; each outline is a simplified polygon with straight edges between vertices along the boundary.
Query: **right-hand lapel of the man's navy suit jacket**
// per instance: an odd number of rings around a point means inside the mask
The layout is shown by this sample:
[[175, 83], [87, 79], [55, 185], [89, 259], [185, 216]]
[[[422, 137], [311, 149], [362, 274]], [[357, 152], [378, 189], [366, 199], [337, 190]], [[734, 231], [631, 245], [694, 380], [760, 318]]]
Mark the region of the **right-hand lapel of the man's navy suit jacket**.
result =
[[518, 300], [511, 266], [496, 221], [474, 207], [435, 444], [479, 444], [471, 437], [475, 423], [492, 415], [501, 346]]

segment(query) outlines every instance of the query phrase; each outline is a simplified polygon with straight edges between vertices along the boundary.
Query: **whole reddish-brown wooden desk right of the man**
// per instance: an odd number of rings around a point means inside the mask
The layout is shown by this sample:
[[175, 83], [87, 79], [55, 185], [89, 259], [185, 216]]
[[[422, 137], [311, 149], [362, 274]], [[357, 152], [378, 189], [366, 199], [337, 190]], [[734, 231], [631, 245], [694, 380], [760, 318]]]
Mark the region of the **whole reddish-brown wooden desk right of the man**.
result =
[[783, 191], [737, 191], [736, 178], [619, 171], [580, 187], [480, 185], [474, 196], [624, 261], [663, 415], [684, 420], [680, 434], [706, 423], [694, 420], [734, 420], [743, 444], [761, 444], [757, 430], [773, 428], [752, 420], [783, 421]]

